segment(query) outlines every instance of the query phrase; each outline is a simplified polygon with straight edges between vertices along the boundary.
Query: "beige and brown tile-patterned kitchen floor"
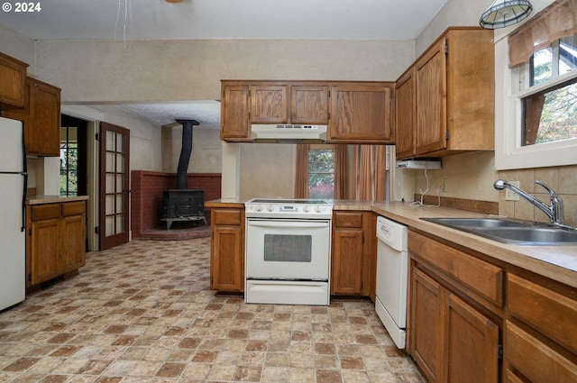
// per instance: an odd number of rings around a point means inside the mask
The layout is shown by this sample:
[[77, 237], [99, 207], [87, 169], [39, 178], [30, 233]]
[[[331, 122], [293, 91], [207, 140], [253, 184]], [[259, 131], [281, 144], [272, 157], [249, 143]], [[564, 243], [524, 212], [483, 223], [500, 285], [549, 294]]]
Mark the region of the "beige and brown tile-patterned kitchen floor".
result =
[[371, 302], [246, 305], [208, 238], [133, 241], [0, 314], [0, 382], [423, 383]]

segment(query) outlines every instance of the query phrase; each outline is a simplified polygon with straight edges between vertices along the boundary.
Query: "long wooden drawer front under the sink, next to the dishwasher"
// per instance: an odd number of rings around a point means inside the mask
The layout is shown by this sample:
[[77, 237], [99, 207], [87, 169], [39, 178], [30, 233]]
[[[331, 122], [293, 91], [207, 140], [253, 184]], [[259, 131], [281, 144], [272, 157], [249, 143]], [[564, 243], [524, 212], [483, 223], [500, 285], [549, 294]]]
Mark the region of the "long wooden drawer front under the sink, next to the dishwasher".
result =
[[414, 232], [408, 233], [408, 250], [490, 302], [503, 305], [499, 267]]

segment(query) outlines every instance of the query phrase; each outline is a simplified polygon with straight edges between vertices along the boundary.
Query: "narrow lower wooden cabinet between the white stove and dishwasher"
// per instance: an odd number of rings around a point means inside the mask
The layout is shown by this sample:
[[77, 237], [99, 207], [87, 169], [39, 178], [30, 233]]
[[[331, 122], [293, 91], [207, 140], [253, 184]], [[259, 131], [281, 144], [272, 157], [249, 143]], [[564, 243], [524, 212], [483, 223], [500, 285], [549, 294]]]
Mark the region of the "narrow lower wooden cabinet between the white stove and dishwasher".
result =
[[372, 296], [376, 269], [374, 214], [362, 211], [333, 213], [331, 295]]

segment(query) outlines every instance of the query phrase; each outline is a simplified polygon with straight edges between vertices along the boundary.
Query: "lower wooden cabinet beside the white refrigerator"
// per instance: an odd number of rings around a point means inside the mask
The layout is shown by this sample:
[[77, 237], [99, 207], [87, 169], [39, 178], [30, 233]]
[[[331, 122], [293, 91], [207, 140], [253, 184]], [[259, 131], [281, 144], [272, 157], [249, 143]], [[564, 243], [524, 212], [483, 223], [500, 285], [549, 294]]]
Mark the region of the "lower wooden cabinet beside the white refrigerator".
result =
[[26, 287], [85, 265], [86, 203], [27, 205]]

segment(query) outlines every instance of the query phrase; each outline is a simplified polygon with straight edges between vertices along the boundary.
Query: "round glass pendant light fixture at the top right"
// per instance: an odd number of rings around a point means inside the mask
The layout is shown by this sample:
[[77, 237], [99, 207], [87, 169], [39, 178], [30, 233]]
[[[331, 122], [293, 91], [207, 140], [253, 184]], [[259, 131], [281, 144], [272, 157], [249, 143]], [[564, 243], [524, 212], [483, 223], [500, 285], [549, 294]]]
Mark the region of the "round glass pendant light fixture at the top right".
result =
[[516, 24], [527, 19], [533, 11], [528, 0], [495, 0], [487, 11], [481, 14], [479, 24], [486, 29], [497, 29]]

